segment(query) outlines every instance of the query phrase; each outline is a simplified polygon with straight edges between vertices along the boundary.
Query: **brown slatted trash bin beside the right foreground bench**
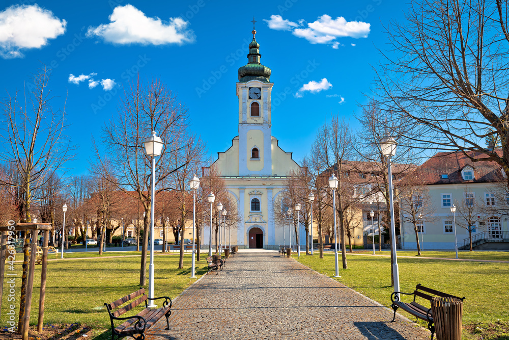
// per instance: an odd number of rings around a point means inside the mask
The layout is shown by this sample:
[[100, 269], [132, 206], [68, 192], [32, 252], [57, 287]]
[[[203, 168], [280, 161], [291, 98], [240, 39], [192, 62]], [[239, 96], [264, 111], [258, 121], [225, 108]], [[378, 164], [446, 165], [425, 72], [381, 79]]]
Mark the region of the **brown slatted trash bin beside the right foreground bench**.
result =
[[434, 297], [431, 311], [437, 340], [461, 340], [463, 301], [456, 298]]

